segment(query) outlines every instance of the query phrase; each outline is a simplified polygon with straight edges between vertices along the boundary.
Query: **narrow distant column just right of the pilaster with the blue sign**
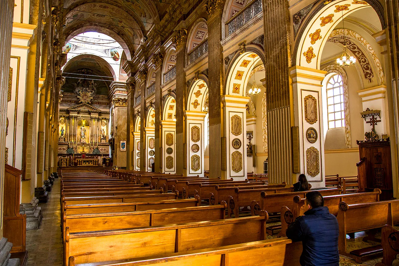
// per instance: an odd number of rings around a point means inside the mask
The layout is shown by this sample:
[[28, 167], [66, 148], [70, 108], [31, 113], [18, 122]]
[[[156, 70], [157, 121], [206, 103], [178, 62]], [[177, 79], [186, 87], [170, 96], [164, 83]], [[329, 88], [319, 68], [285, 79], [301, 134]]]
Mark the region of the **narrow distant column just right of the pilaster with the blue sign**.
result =
[[129, 78], [126, 82], [127, 91], [127, 132], [126, 132], [126, 169], [134, 169], [134, 89], [136, 84]]

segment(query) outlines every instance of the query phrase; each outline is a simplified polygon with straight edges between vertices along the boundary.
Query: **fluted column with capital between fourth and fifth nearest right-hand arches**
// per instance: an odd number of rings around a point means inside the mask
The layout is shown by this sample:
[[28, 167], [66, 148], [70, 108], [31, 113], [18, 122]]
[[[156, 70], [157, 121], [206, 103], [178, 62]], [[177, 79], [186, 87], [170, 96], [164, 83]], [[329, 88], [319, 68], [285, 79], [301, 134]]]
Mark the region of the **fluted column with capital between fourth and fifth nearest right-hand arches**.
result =
[[162, 172], [162, 142], [161, 142], [161, 116], [162, 116], [162, 63], [164, 55], [158, 52], [152, 58], [152, 63], [155, 65], [155, 171]]

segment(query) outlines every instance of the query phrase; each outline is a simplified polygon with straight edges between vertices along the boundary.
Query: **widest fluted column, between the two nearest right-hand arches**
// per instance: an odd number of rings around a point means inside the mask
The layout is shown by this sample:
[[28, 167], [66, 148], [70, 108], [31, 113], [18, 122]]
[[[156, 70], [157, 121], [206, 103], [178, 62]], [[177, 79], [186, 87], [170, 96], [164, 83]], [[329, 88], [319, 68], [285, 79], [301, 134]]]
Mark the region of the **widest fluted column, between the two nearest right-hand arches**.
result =
[[292, 184], [289, 4], [288, 0], [263, 4], [269, 183]]

